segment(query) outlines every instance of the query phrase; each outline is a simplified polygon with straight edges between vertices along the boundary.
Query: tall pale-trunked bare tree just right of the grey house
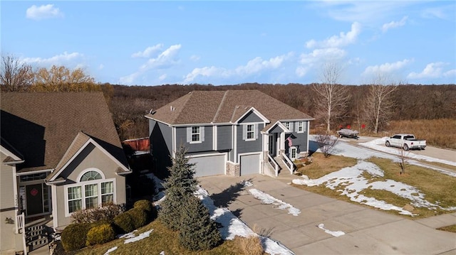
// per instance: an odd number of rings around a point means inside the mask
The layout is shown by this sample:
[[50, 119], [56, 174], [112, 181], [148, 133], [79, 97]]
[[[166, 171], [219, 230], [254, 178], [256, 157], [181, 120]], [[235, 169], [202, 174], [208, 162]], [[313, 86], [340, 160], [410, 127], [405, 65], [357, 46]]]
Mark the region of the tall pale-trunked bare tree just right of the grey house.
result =
[[314, 97], [315, 116], [324, 121], [326, 132], [331, 131], [331, 120], [345, 113], [349, 98], [347, 87], [336, 84], [341, 76], [341, 71], [341, 65], [326, 63], [321, 75], [322, 83], [312, 85], [316, 93], [316, 97]]

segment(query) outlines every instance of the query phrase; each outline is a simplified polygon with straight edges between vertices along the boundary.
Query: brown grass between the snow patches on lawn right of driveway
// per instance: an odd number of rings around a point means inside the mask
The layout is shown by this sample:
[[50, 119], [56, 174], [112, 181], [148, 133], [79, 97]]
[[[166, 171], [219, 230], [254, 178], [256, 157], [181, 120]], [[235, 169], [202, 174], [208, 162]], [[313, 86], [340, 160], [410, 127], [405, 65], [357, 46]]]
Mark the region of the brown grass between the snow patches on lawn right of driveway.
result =
[[[316, 153], [315, 153], [316, 154]], [[315, 155], [314, 154], [314, 155]], [[318, 153], [320, 154], [320, 153]], [[331, 161], [326, 161], [330, 160]], [[356, 160], [355, 160], [356, 161]], [[449, 175], [445, 175], [443, 173], [439, 173], [435, 170], [431, 170], [428, 168], [423, 168], [419, 166], [407, 165], [405, 168], [405, 174], [400, 175], [400, 168], [397, 163], [394, 163], [385, 158], [370, 158], [368, 161], [375, 163], [379, 166], [385, 176], [383, 178], [373, 177], [368, 175], [368, 173], [364, 173], [363, 176], [371, 181], [381, 181], [381, 180], [395, 180], [401, 183], [405, 183], [408, 185], [412, 185], [420, 192], [425, 194], [425, 200], [438, 203], [442, 207], [455, 207], [456, 206], [456, 178], [451, 177]], [[348, 161], [344, 157], [337, 157], [331, 156], [330, 158], [323, 158], [323, 157], [316, 157], [314, 156], [314, 163], [310, 166], [306, 166], [304, 168], [308, 168], [306, 170], [300, 170], [302, 173], [307, 175], [306, 173], [311, 173], [314, 177], [309, 176], [311, 179], [320, 178], [327, 173], [331, 173], [333, 171], [339, 170], [346, 166], [354, 166], [356, 162]], [[311, 169], [311, 170], [310, 170]], [[304, 190], [309, 190], [311, 192], [316, 192], [321, 195], [326, 195], [328, 197], [333, 197], [338, 200], [350, 201], [348, 197], [341, 196], [340, 192], [336, 192], [336, 190], [331, 190], [326, 188], [324, 185], [314, 186], [314, 187], [307, 187], [306, 185], [294, 185], [297, 188], [301, 188]], [[405, 205], [410, 203], [410, 200], [395, 195], [391, 192], [386, 190], [371, 190], [366, 189], [361, 194], [366, 195], [368, 197], [375, 197], [377, 200], [384, 200], [390, 204], [396, 205], [398, 207], [404, 207]], [[373, 207], [371, 207], [373, 208]], [[398, 212], [395, 211], [385, 211], [390, 212], [395, 215], [399, 215]], [[433, 215], [441, 215], [449, 212], [455, 211], [446, 211], [446, 210], [428, 210], [427, 208], [415, 207], [413, 213], [418, 214], [419, 216], [413, 217], [413, 219], [419, 219], [423, 217], [430, 217]], [[408, 216], [404, 216], [408, 217]]]

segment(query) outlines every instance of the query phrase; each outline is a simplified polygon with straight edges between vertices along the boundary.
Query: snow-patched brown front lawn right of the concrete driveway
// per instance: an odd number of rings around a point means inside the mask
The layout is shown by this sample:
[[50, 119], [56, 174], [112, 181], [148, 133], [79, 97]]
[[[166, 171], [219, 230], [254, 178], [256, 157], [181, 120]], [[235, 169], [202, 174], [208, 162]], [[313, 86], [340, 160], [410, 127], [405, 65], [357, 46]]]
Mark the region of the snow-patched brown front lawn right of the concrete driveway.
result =
[[[314, 163], [299, 170], [300, 173], [309, 176], [310, 180], [304, 181], [306, 184], [303, 185], [293, 185], [338, 200], [351, 202], [357, 200], [354, 203], [368, 203], [368, 197], [372, 197], [390, 205], [389, 207], [405, 209], [405, 205], [408, 205], [405, 210], [413, 214], [413, 219], [456, 212], [455, 177], [413, 165], [406, 165], [405, 174], [400, 174], [398, 163], [385, 158], [366, 160], [368, 164], [374, 164], [377, 171], [382, 173], [381, 175], [375, 171], [371, 173], [372, 170], [369, 171], [369, 167], [366, 169], [361, 167], [365, 167], [366, 164], [358, 165], [361, 168], [351, 170], [351, 173], [355, 173], [356, 176], [348, 176], [347, 171], [338, 174], [338, 170], [356, 165], [356, 159], [351, 158], [351, 160], [341, 156], [323, 158], [322, 153], [314, 153]], [[296, 176], [296, 179], [299, 177]], [[358, 190], [350, 190], [355, 182], [363, 183], [363, 188], [357, 185]], [[410, 205], [414, 205], [414, 208]], [[396, 215], [399, 212], [405, 213], [398, 208], [387, 212]]]

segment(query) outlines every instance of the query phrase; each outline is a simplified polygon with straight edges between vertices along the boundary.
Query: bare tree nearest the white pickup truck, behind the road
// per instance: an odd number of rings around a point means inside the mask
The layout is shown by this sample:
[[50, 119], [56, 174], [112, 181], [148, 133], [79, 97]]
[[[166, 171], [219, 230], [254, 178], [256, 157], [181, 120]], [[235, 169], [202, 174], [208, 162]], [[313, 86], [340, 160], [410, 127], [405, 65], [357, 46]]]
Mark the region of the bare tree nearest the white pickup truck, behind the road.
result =
[[394, 82], [388, 82], [388, 77], [378, 74], [373, 84], [369, 85], [369, 92], [366, 97], [366, 118], [373, 126], [373, 132], [378, 133], [378, 129], [386, 124], [390, 115], [393, 113], [394, 102], [393, 92], [398, 88]]

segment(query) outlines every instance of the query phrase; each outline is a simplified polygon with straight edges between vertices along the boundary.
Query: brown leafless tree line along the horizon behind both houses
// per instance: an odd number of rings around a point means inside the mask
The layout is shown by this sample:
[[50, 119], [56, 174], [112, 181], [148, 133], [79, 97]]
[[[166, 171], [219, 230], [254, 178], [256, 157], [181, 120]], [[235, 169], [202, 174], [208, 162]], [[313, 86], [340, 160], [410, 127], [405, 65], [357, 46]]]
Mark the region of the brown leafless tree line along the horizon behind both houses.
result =
[[148, 136], [145, 119], [158, 109], [193, 90], [258, 89], [315, 118], [311, 127], [331, 133], [340, 127], [366, 128], [378, 133], [391, 120], [456, 119], [456, 85], [408, 85], [379, 74], [370, 84], [341, 85], [339, 65], [323, 67], [321, 80], [313, 84], [290, 83], [239, 85], [125, 86], [96, 83], [81, 69], [63, 66], [33, 70], [14, 57], [1, 61], [0, 88], [22, 92], [102, 91], [113, 114], [120, 139]]

